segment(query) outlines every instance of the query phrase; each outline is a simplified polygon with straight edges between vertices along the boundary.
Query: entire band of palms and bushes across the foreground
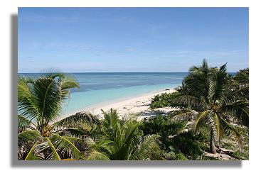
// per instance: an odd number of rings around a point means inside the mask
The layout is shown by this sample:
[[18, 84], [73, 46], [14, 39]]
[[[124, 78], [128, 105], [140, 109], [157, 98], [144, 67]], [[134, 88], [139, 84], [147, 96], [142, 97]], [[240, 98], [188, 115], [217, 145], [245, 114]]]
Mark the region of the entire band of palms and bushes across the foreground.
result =
[[172, 111], [143, 121], [114, 109], [62, 118], [75, 77], [18, 75], [18, 160], [247, 160], [249, 69], [226, 67], [191, 67], [176, 92], [151, 101]]

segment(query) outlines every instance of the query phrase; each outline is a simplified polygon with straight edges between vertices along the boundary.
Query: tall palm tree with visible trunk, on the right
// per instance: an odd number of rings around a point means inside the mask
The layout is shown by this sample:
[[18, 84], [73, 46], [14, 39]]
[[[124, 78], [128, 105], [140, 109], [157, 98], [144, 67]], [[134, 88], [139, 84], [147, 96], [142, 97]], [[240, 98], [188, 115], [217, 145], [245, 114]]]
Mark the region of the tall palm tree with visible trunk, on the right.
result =
[[226, 64], [208, 67], [203, 60], [201, 67], [192, 67], [183, 80], [184, 92], [172, 102], [172, 106], [180, 106], [180, 111], [171, 113], [172, 118], [196, 118], [195, 131], [201, 123], [210, 126], [210, 151], [216, 153], [215, 138], [230, 132], [240, 138], [240, 133], [233, 123], [249, 125], [249, 88], [241, 86], [230, 88]]

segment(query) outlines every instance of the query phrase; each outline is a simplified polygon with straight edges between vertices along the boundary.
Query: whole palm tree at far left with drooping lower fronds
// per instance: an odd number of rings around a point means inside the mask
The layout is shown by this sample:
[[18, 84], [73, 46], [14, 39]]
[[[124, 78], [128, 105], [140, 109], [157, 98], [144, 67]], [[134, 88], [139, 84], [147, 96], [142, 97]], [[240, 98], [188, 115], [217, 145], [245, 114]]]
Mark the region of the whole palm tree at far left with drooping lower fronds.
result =
[[90, 113], [80, 112], [57, 121], [70, 89], [78, 82], [62, 73], [37, 79], [18, 76], [18, 158], [23, 160], [82, 159], [75, 146], [82, 141], [79, 126], [98, 123]]

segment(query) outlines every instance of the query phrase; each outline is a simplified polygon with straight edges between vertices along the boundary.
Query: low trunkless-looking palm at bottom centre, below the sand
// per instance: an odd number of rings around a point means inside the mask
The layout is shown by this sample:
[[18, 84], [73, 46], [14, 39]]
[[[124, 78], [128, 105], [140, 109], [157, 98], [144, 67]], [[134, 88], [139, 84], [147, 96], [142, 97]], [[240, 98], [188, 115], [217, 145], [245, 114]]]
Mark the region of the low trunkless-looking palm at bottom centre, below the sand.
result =
[[117, 111], [102, 111], [102, 138], [96, 142], [88, 139], [91, 152], [87, 160], [159, 160], [161, 150], [158, 135], [142, 137], [139, 123], [131, 118], [118, 119]]

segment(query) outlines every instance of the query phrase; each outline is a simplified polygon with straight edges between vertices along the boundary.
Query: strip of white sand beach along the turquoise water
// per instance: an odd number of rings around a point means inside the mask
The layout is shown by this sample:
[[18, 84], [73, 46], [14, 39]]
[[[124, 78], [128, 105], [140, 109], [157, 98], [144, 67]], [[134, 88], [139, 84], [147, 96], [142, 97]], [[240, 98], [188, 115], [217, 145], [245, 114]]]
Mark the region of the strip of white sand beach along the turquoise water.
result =
[[[137, 114], [140, 113], [138, 120], [142, 120], [143, 118], [155, 116], [159, 109], [155, 109], [151, 111], [150, 104], [151, 99], [156, 96], [157, 94], [163, 93], [173, 93], [176, 91], [174, 88], [172, 89], [161, 89], [157, 91], [152, 91], [147, 94], [142, 94], [138, 96], [133, 96], [129, 98], [119, 99], [119, 101], [110, 101], [101, 104], [96, 104], [94, 106], [89, 106], [85, 109], [80, 109], [79, 111], [73, 111], [70, 113], [65, 113], [61, 118], [65, 118], [67, 116], [73, 115], [80, 111], [89, 111], [90, 113], [99, 116], [102, 118], [103, 114], [101, 110], [108, 111], [111, 108], [116, 109], [119, 116], [126, 116], [129, 113]], [[172, 109], [161, 109], [162, 112], [169, 112]]]

